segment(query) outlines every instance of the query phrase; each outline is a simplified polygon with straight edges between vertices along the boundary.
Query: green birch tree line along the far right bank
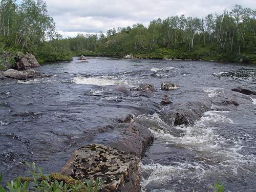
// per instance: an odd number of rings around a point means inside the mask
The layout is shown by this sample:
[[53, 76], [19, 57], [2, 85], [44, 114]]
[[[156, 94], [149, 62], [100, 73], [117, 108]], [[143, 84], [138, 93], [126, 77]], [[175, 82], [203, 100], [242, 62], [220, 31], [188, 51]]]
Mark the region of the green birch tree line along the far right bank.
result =
[[152, 20], [145, 27], [110, 29], [99, 33], [69, 38], [70, 49], [89, 54], [123, 55], [161, 58], [205, 58], [230, 61], [255, 61], [256, 10], [234, 6], [222, 14], [205, 18], [170, 16]]

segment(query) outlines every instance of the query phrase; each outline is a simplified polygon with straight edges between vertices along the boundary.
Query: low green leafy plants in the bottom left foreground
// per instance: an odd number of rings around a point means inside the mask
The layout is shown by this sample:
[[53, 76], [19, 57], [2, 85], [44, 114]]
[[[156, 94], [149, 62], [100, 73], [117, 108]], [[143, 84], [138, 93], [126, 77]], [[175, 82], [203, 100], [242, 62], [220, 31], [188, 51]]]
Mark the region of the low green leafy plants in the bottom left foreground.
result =
[[[22, 162], [28, 167], [28, 172], [32, 178], [18, 177], [11, 182], [7, 182], [7, 190], [0, 185], [0, 192], [97, 192], [101, 189], [102, 181], [98, 178], [95, 181], [85, 181], [84, 183], [74, 180], [71, 177], [62, 176], [58, 173], [44, 175], [40, 167], [36, 167], [35, 163]], [[62, 180], [60, 180], [62, 179]], [[2, 174], [0, 174], [0, 182]]]

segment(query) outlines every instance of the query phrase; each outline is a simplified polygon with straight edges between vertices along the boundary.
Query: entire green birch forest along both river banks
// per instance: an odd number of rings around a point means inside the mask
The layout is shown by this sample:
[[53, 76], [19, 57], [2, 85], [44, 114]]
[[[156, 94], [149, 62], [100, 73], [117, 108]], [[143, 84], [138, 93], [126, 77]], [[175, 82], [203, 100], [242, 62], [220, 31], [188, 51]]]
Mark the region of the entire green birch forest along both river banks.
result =
[[132, 53], [141, 58], [255, 63], [255, 15], [255, 9], [236, 5], [231, 11], [205, 18], [170, 16], [153, 20], [147, 27], [136, 24], [63, 38], [48, 15], [45, 1], [1, 0], [0, 69], [8, 60], [6, 51], [30, 52], [40, 62], [71, 60], [73, 55], [123, 57]]

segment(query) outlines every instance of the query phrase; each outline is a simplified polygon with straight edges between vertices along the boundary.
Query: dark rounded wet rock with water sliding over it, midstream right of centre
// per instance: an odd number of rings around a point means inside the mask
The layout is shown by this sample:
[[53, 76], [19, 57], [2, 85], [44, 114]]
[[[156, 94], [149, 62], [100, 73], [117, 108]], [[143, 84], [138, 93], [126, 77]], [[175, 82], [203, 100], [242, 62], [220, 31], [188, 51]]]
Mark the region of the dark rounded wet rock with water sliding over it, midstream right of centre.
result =
[[182, 124], [193, 125], [206, 111], [210, 110], [210, 107], [210, 99], [206, 97], [200, 101], [173, 104], [170, 108], [161, 111], [159, 117], [171, 127]]

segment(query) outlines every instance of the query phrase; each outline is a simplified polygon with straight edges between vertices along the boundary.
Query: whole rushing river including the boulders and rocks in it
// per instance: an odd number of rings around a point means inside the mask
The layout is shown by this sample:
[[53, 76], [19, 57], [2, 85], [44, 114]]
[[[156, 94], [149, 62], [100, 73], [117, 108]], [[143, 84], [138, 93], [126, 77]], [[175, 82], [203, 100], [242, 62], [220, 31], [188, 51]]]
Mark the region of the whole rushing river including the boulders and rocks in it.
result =
[[17, 176], [27, 160], [47, 173], [103, 178], [105, 191], [207, 191], [218, 180], [253, 191], [255, 71], [74, 58], [30, 79], [3, 77], [0, 172]]

